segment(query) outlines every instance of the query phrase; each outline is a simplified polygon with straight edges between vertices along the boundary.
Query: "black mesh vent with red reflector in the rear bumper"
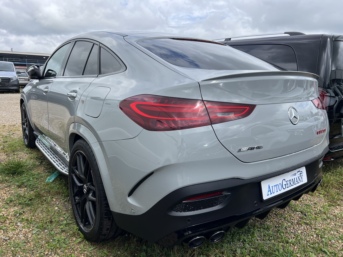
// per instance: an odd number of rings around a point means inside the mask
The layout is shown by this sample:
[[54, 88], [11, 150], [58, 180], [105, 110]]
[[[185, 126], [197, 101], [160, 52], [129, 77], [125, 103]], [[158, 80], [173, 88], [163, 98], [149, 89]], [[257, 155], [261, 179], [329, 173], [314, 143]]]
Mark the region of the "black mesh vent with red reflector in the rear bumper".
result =
[[230, 194], [224, 194], [216, 197], [179, 203], [173, 208], [173, 211], [189, 212], [212, 208], [223, 203], [229, 196]]

